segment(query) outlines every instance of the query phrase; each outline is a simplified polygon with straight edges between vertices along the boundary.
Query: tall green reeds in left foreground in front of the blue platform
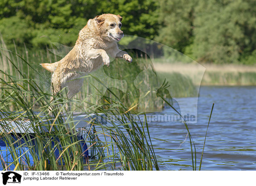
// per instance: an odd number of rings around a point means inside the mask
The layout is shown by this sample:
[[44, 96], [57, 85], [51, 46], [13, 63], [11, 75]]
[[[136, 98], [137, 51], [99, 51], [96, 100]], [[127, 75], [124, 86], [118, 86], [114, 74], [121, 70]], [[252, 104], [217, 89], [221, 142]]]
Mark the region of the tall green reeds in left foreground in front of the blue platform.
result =
[[[30, 64], [21, 56], [24, 64]], [[8, 58], [9, 59], [9, 58]], [[80, 131], [76, 131], [73, 117], [74, 110], [66, 110], [65, 105], [72, 103], [76, 106], [84, 105], [85, 101], [76, 102], [65, 98], [65, 90], [54, 95], [54, 99], [49, 101], [51, 93], [45, 93], [40, 86], [40, 80], [27, 77], [9, 59], [13, 68], [19, 76], [11, 76], [0, 70], [0, 89], [1, 89], [1, 119], [2, 128], [0, 137], [9, 146], [9, 151], [13, 162], [7, 163], [1, 160], [4, 169], [12, 164], [17, 170], [84, 170], [90, 169], [90, 162], [83, 162], [81, 146], [76, 138]], [[33, 69], [33, 67], [31, 67]], [[36, 70], [35, 73], [40, 73]], [[18, 78], [17, 78], [18, 77]], [[21, 78], [20, 78], [21, 77]], [[85, 76], [87, 78], [89, 76]], [[93, 76], [91, 76], [93, 77]], [[98, 78], [96, 81], [102, 83]], [[103, 84], [103, 83], [102, 83]], [[28, 88], [29, 87], [29, 88]], [[147, 123], [136, 122], [132, 119], [131, 112], [111, 90], [113, 98], [101, 95], [107, 104], [91, 105], [84, 109], [85, 113], [90, 113], [94, 108], [100, 113], [113, 114], [116, 119], [111, 121], [111, 126], [102, 125], [100, 122], [88, 123], [90, 129], [83, 128], [83, 137], [90, 145], [90, 156], [99, 160], [95, 169], [106, 169], [105, 165], [110, 162], [113, 164], [111, 169], [122, 170], [158, 170], [157, 160], [154, 154], [153, 146], [148, 143]], [[98, 93], [100, 94], [100, 92]], [[111, 104], [110, 104], [111, 103]], [[10, 110], [10, 105], [12, 109]], [[36, 106], [36, 107], [35, 107]], [[52, 115], [48, 113], [48, 107], [52, 107]], [[35, 112], [37, 110], [38, 112]], [[30, 133], [20, 133], [12, 131], [10, 121], [15, 122], [24, 130], [32, 130], [35, 135]], [[29, 125], [23, 125], [29, 121]], [[46, 131], [44, 130], [47, 129]], [[14, 134], [16, 138], [10, 134]], [[104, 139], [99, 136], [103, 136]], [[20, 141], [23, 140], [24, 143]], [[36, 145], [35, 145], [36, 144]], [[33, 164], [30, 163], [27, 152], [19, 151], [24, 146], [29, 147], [29, 153], [32, 155]], [[59, 157], [56, 157], [54, 151], [60, 151]], [[120, 163], [117, 168], [116, 163]], [[100, 166], [99, 166], [100, 165]]]

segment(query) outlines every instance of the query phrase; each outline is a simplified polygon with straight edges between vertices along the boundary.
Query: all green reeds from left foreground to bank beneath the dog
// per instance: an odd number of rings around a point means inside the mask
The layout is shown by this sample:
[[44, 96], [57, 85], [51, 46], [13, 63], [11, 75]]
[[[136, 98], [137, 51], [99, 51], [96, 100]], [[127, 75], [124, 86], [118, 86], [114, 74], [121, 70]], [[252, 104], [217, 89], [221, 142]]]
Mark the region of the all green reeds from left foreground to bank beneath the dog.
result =
[[[38, 64], [56, 61], [58, 56], [47, 50], [33, 52], [25, 45], [19, 48], [21, 52], [16, 47], [11, 51], [3, 39], [0, 46], [0, 139], [6, 144], [1, 149], [0, 169], [15, 166], [15, 170], [159, 170], [160, 157], [154, 153], [147, 120], [135, 121], [132, 116], [145, 116], [150, 109], [155, 112], [162, 109], [163, 103], [181, 116], [172, 106], [172, 97], [196, 96], [190, 78], [181, 73], [157, 76], [151, 60], [134, 58], [132, 64], [115, 60], [99, 72], [84, 74], [85, 84], [74, 99], [67, 99], [63, 89], [50, 101], [50, 74]], [[139, 111], [139, 103], [147, 105], [147, 110]], [[66, 109], [68, 104], [72, 104], [71, 110]], [[53, 117], [48, 113], [49, 106], [53, 108]], [[91, 127], [84, 128], [83, 139], [78, 139], [81, 133], [73, 130], [76, 111], [116, 117], [111, 126], [90, 120]], [[16, 125], [30, 121], [29, 128], [37, 135], [16, 131], [10, 135], [9, 121]], [[183, 123], [189, 137], [191, 169], [197, 170], [197, 148], [186, 121]], [[86, 162], [80, 146], [83, 140], [90, 154]], [[58, 157], [56, 149], [62, 151]], [[3, 159], [7, 156], [10, 162]]]

